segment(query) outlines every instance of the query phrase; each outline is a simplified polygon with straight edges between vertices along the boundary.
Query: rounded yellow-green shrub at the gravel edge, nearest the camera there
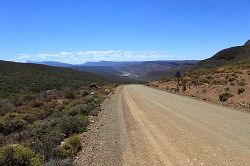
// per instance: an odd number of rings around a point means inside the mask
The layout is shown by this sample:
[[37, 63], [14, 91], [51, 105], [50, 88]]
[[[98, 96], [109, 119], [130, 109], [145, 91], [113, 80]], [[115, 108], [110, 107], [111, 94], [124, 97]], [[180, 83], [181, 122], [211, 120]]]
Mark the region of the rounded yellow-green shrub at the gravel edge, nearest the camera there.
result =
[[79, 136], [67, 138], [58, 148], [58, 155], [61, 157], [74, 157], [82, 148]]

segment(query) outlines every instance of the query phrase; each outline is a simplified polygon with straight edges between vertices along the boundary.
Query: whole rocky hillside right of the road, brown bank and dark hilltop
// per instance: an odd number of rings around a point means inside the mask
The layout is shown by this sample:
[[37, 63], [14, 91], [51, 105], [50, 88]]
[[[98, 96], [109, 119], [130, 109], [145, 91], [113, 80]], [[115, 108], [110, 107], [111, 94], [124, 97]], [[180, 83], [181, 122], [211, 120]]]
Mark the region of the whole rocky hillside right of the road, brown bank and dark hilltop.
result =
[[[149, 83], [149, 86], [201, 100], [250, 111], [250, 42], [222, 50], [175, 77]], [[176, 72], [176, 71], [175, 71]]]

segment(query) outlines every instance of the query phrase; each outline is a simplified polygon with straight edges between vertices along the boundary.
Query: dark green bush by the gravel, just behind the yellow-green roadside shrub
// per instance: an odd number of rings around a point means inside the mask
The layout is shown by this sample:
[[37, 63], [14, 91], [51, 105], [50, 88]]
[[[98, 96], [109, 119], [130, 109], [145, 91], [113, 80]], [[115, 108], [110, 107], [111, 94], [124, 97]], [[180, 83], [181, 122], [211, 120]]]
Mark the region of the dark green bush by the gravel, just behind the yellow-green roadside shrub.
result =
[[81, 133], [86, 131], [88, 125], [88, 117], [86, 116], [71, 116], [64, 117], [58, 124], [59, 130], [66, 136]]

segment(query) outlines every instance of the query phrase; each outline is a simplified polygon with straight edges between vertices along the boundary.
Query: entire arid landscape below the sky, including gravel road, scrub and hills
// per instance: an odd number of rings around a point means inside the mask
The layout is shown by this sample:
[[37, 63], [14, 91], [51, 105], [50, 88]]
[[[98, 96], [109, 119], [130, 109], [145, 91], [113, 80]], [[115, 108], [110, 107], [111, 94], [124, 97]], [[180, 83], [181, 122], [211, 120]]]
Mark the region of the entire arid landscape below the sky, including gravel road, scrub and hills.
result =
[[0, 165], [246, 165], [249, 46], [202, 61], [0, 61]]

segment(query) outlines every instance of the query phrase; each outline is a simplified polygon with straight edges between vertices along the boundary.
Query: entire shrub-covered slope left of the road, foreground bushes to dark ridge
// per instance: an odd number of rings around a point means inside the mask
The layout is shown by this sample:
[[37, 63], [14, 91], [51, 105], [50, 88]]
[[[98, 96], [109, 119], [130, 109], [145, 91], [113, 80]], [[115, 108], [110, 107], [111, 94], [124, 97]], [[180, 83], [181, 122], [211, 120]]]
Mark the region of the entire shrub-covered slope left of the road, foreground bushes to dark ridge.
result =
[[[98, 88], [89, 88], [93, 82]], [[68, 68], [0, 61], [0, 165], [72, 165], [82, 148], [78, 134], [99, 114], [111, 82]]]

